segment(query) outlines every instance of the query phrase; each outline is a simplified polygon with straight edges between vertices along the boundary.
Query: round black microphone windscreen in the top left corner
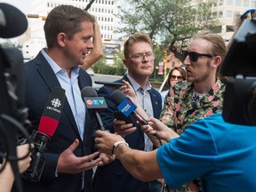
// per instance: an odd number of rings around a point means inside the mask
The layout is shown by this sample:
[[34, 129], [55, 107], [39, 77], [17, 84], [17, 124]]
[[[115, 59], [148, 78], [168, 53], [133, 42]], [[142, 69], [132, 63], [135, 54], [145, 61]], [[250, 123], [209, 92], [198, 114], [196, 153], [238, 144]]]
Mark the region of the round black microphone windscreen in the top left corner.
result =
[[0, 3], [0, 37], [20, 36], [27, 28], [28, 20], [24, 13], [11, 4]]

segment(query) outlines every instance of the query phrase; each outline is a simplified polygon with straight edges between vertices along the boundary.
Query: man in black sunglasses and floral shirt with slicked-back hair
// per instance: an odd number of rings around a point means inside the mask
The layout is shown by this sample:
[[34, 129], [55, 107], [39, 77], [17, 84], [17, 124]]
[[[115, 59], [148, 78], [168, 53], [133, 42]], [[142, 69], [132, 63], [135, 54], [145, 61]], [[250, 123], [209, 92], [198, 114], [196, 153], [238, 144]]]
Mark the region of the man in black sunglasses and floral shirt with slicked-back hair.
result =
[[[187, 51], [182, 53], [187, 81], [178, 82], [171, 88], [160, 116], [160, 120], [178, 134], [197, 119], [222, 112], [225, 84], [218, 78], [218, 72], [227, 47], [221, 36], [203, 32], [193, 36]], [[182, 186], [180, 191], [192, 188], [199, 191], [200, 185], [200, 181], [194, 180]]]

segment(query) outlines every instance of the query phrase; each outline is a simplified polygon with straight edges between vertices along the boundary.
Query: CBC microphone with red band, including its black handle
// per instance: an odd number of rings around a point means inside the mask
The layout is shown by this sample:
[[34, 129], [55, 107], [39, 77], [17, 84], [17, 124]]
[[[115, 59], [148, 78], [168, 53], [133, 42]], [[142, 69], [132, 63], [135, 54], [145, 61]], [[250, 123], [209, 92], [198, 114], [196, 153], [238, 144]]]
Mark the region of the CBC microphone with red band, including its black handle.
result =
[[48, 140], [51, 140], [52, 135], [56, 131], [59, 124], [60, 115], [65, 101], [65, 90], [60, 87], [54, 87], [50, 98], [47, 100], [44, 107], [43, 115], [41, 116], [38, 131], [34, 130], [27, 139], [18, 140], [18, 144], [33, 143], [32, 161], [28, 170], [21, 174], [25, 180], [38, 182], [41, 179], [44, 170], [43, 154], [47, 150]]

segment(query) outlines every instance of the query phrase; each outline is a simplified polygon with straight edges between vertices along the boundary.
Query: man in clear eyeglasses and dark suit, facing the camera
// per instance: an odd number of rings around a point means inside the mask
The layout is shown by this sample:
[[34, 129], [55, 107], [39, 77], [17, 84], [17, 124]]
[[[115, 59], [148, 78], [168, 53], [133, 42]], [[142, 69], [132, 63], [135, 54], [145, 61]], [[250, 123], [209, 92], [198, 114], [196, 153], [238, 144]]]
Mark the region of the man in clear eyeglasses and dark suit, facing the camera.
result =
[[[140, 99], [140, 104], [148, 116], [159, 117], [162, 110], [162, 97], [159, 92], [152, 88], [148, 77], [154, 71], [153, 45], [148, 35], [137, 33], [129, 37], [124, 44], [124, 65], [128, 68], [128, 74], [116, 82], [123, 80], [132, 84], [134, 91]], [[117, 110], [115, 103], [110, 100], [110, 94], [114, 89], [103, 86], [98, 95], [104, 97], [108, 103], [108, 109], [100, 116], [106, 129], [115, 132], [113, 120], [116, 118], [114, 112]], [[133, 124], [136, 120], [132, 119]], [[124, 136], [124, 135], [123, 135]], [[125, 136], [125, 140], [131, 148], [139, 150], [152, 150], [154, 148], [148, 136], [146, 136], [137, 124], [137, 130]], [[108, 165], [97, 168], [93, 178], [94, 192], [160, 192], [162, 184], [158, 180], [142, 182], [135, 179], [119, 160]]]

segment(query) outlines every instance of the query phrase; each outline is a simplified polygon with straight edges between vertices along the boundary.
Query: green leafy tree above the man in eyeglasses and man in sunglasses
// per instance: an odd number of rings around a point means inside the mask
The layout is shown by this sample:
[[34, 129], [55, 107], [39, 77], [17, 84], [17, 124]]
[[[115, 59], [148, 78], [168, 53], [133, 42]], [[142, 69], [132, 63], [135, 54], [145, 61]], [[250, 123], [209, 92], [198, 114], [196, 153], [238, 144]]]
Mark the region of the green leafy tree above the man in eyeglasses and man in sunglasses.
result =
[[[195, 3], [196, 2], [196, 3]], [[129, 0], [129, 6], [118, 7], [122, 22], [119, 32], [127, 35], [147, 33], [154, 43], [168, 46], [178, 58], [188, 40], [200, 30], [219, 25], [214, 19], [213, 1], [204, 0]]]

